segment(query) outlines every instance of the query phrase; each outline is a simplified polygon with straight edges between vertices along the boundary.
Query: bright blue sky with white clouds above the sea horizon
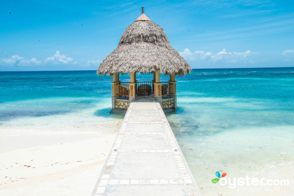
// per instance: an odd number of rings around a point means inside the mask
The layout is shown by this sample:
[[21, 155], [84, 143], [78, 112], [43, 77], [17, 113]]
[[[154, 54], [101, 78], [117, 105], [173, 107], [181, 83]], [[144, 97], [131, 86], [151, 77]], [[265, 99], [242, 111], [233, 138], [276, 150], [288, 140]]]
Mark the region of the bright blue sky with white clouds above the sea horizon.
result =
[[294, 66], [293, 1], [8, 1], [0, 71], [96, 70], [141, 14], [192, 68]]

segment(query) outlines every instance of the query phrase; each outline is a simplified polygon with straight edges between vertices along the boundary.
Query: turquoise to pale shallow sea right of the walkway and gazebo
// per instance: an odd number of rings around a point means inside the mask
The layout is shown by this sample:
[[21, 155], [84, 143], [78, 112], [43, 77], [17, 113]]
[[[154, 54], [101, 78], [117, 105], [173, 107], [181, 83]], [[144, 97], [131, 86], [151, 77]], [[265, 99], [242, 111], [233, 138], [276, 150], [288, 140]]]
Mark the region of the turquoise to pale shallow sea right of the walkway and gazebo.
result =
[[[293, 71], [193, 70], [177, 78], [178, 111], [167, 118], [203, 195], [293, 194]], [[213, 184], [216, 171], [292, 181], [279, 191], [244, 191]]]

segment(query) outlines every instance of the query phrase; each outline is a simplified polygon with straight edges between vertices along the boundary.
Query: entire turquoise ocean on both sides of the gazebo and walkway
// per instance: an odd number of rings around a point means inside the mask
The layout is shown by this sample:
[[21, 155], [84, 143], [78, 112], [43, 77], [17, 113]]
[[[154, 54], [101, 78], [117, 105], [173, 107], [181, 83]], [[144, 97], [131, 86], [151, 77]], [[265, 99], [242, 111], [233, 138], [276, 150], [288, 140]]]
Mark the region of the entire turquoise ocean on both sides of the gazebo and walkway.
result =
[[[108, 113], [111, 81], [95, 71], [0, 72], [0, 132], [98, 131], [95, 124], [123, 118]], [[167, 118], [203, 195], [293, 193], [294, 68], [193, 69], [176, 81], [178, 110]], [[211, 182], [216, 171], [290, 185], [230, 189]]]

